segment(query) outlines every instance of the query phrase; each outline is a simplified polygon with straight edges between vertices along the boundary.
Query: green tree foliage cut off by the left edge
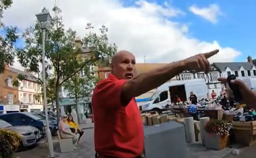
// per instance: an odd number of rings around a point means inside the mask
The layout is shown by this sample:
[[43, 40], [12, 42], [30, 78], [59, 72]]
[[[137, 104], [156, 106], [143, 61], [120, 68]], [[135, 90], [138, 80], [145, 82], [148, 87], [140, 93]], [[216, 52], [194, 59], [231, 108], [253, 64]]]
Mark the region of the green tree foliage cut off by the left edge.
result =
[[2, 22], [4, 10], [10, 8], [12, 3], [12, 0], [0, 0], [0, 74], [4, 72], [5, 65], [14, 63], [13, 46], [18, 39], [17, 27], [5, 27]]

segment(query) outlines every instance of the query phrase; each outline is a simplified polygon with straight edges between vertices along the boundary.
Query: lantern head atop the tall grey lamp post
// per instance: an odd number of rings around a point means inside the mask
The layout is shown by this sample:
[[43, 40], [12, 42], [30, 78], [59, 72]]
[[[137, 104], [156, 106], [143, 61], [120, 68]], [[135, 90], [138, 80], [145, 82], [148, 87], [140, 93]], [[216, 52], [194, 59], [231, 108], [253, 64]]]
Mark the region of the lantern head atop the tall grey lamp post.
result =
[[36, 14], [36, 18], [39, 21], [41, 29], [48, 29], [52, 23], [52, 17], [45, 7], [41, 13]]

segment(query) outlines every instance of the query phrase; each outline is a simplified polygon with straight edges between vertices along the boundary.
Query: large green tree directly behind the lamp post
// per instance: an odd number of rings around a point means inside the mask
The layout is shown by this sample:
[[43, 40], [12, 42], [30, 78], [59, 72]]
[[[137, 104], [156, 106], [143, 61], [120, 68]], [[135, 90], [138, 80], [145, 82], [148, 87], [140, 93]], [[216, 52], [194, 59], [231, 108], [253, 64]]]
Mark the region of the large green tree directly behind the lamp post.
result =
[[[80, 72], [85, 66], [93, 65], [99, 59], [111, 56], [116, 52], [116, 45], [108, 43], [107, 28], [101, 29], [100, 36], [95, 33], [89, 33], [85, 38], [86, 47], [90, 50], [89, 58], [83, 60], [81, 63], [77, 57], [81, 54], [82, 48], [75, 48], [75, 39], [77, 37], [76, 31], [71, 28], [65, 30], [65, 26], [62, 23], [62, 17], [60, 16], [61, 10], [54, 8], [55, 16], [53, 17], [53, 25], [46, 32], [45, 41], [45, 53], [46, 53], [46, 80], [49, 80], [50, 76], [54, 76], [54, 88], [47, 87], [47, 91], [51, 94], [54, 93], [56, 101], [57, 118], [60, 117], [59, 109], [59, 90], [63, 84], [69, 80], [72, 76]], [[90, 27], [91, 29], [91, 27]], [[39, 70], [39, 66], [42, 63], [42, 31], [39, 28], [38, 23], [34, 27], [26, 29], [22, 38], [25, 39], [25, 47], [17, 49], [17, 56], [19, 63], [27, 68], [30, 72], [37, 74], [38, 82], [42, 83], [42, 75]], [[102, 39], [104, 38], [104, 39]], [[92, 42], [94, 44], [92, 44]], [[105, 43], [102, 43], [105, 42]], [[90, 43], [90, 44], [88, 44]], [[112, 50], [113, 51], [108, 51]], [[76, 67], [76, 69], [74, 69]], [[27, 76], [18, 75], [19, 79], [24, 79]], [[55, 92], [52, 92], [52, 91]], [[49, 95], [48, 95], [49, 96]]]

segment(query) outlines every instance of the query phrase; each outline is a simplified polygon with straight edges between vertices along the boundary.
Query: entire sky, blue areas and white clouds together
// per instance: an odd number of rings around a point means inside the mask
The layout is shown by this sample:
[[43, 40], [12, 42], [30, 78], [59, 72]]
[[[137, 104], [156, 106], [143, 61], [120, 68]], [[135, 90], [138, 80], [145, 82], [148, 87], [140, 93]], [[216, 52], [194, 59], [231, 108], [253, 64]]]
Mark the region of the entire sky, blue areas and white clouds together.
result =
[[[52, 0], [38, 0], [20, 8], [25, 1], [14, 1], [13, 6], [5, 12], [6, 24], [18, 26], [21, 30], [35, 22], [34, 14], [40, 12], [43, 4], [46, 8], [53, 7]], [[246, 0], [246, 3], [241, 0], [147, 0], [146, 3], [146, 0], [75, 1], [77, 3], [59, 1], [65, 26], [68, 25], [83, 37], [87, 22], [91, 22], [95, 28], [107, 25], [110, 43], [115, 42], [119, 49], [131, 51], [138, 63], [144, 62], [144, 56], [146, 62], [166, 63], [219, 47], [222, 50], [212, 57], [214, 62], [246, 61], [248, 55], [256, 59], [256, 32], [253, 31], [256, 23], [256, 1], [253, 0]], [[139, 1], [143, 4], [138, 5]], [[165, 6], [166, 3], [168, 7]], [[168, 13], [172, 8], [185, 13], [177, 16], [167, 15], [164, 19], [185, 24], [188, 32], [183, 33], [181, 28], [179, 30], [169, 23], [159, 22], [163, 18], [156, 13], [163, 12], [163, 8], [153, 4], [168, 8]], [[193, 5], [199, 9], [215, 5], [221, 14], [216, 16], [217, 22], [213, 22], [195, 12], [192, 13], [189, 8]], [[83, 6], [90, 6], [90, 10], [85, 10]], [[24, 15], [16, 13], [18, 8]], [[148, 11], [149, 8], [152, 11]], [[166, 12], [165, 14], [168, 14]], [[213, 42], [215, 40], [217, 42]], [[18, 47], [23, 44], [22, 40], [18, 40]], [[238, 55], [240, 52], [241, 55]]]

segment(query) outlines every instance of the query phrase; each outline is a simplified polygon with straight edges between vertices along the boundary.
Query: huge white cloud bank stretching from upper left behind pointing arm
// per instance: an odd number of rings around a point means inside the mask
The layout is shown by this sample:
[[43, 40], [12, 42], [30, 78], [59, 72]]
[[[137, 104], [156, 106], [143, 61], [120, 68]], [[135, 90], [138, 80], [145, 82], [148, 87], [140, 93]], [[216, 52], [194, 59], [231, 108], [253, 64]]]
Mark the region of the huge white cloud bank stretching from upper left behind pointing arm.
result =
[[[66, 27], [71, 27], [83, 37], [88, 22], [94, 28], [103, 24], [108, 26], [110, 42], [115, 42], [119, 49], [134, 53], [137, 63], [144, 62], [143, 56], [146, 56], [146, 62], [163, 63], [214, 49], [221, 51], [210, 61], [230, 62], [240, 54], [233, 48], [222, 48], [215, 40], [205, 42], [189, 38], [187, 24], [169, 20], [170, 17], [185, 14], [167, 3], [164, 7], [142, 0], [135, 4], [136, 6], [124, 8], [118, 0], [73, 0], [58, 3]], [[52, 9], [53, 6], [53, 0], [14, 1], [11, 9], [4, 13], [3, 21], [25, 28], [34, 24], [35, 14], [43, 7]]]

